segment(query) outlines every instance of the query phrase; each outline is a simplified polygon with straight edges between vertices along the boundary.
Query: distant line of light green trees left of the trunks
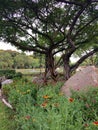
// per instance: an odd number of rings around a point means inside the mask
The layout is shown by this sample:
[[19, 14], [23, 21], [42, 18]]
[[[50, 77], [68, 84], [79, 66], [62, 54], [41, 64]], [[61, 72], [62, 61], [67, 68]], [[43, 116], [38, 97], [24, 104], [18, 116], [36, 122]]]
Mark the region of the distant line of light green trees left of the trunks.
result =
[[44, 67], [40, 56], [26, 55], [12, 50], [0, 50], [0, 69], [20, 69]]

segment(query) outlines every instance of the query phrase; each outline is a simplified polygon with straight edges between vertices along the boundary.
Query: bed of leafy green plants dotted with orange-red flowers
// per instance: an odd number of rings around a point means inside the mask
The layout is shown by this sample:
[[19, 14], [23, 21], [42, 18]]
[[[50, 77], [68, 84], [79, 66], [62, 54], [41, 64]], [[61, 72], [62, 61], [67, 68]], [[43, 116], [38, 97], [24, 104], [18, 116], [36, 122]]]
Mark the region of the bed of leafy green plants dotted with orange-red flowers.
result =
[[60, 93], [62, 83], [39, 87], [27, 80], [4, 86], [12, 113], [14, 130], [97, 130], [98, 89], [88, 93]]

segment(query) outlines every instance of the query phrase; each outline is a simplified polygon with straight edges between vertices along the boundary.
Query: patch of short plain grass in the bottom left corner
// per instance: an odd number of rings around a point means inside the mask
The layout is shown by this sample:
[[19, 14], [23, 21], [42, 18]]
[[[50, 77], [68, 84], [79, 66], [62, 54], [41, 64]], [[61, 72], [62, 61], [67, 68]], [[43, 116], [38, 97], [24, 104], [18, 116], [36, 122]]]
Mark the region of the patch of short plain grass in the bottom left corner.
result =
[[0, 101], [0, 130], [14, 130], [15, 124], [11, 119], [11, 116], [6, 106]]

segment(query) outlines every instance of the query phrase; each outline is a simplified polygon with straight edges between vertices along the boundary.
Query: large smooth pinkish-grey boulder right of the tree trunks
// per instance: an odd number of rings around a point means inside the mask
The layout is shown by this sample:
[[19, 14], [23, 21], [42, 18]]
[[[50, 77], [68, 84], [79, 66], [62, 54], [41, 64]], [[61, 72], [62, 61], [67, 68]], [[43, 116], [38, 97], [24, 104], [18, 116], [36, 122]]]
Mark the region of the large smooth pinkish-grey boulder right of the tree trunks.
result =
[[69, 78], [61, 88], [62, 93], [71, 96], [71, 91], [87, 91], [89, 87], [98, 87], [98, 69], [88, 66]]

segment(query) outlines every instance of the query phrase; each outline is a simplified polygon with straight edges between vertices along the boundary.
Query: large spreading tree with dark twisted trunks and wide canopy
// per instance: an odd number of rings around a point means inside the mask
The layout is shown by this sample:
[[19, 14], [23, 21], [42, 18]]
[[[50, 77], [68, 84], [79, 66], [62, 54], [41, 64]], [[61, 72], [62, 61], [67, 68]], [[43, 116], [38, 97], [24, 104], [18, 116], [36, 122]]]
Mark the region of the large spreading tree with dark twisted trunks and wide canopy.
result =
[[[1, 0], [0, 37], [46, 57], [46, 73], [56, 79], [54, 56], [62, 52], [65, 78], [96, 53], [98, 0]], [[73, 66], [70, 57], [87, 51]]]

